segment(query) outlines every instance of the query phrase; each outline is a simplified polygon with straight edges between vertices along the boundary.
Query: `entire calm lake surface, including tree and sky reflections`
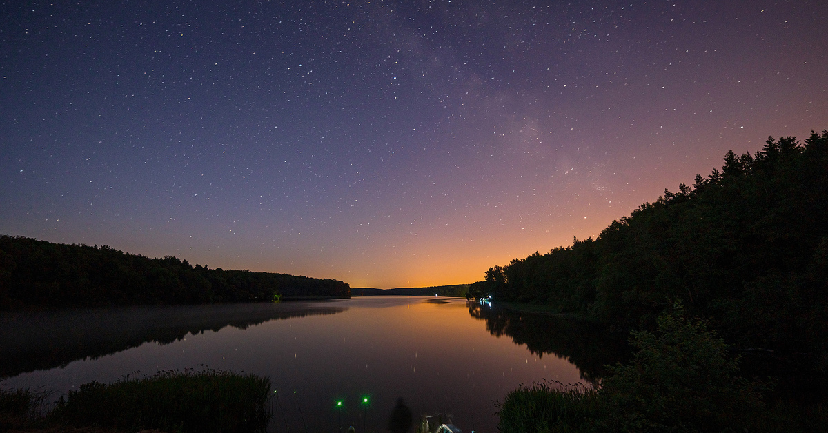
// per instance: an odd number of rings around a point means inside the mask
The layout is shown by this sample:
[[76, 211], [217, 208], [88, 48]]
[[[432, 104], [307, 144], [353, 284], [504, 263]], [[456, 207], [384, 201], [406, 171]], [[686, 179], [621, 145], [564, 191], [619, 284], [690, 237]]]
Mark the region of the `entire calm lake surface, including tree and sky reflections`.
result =
[[340, 422], [386, 431], [397, 397], [415, 421], [441, 412], [465, 433], [493, 432], [494, 402], [509, 391], [545, 380], [590, 386], [623, 357], [618, 341], [549, 315], [415, 296], [7, 314], [0, 386], [56, 399], [127, 374], [227, 369], [271, 378], [271, 432], [335, 432]]

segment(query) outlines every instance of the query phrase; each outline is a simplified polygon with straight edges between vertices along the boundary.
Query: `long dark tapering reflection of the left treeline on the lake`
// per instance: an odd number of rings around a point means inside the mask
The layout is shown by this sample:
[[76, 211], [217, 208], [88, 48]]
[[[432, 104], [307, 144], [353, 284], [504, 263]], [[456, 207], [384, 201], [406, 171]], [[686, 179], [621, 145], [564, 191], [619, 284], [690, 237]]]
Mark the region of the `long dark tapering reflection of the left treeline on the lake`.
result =
[[0, 318], [0, 378], [65, 367], [147, 342], [170, 344], [187, 334], [246, 329], [269, 320], [335, 315], [346, 307], [314, 303], [140, 306], [15, 313]]

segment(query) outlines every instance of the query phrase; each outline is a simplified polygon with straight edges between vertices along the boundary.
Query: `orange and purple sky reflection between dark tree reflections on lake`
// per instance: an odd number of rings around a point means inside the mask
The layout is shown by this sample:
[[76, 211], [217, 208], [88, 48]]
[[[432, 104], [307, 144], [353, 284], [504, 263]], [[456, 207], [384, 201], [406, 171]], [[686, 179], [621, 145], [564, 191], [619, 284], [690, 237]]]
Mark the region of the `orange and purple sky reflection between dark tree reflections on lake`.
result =
[[[146, 343], [65, 368], [24, 373], [5, 387], [47, 387], [60, 392], [98, 380], [157, 369], [230, 369], [266, 374], [279, 391], [271, 431], [335, 431], [334, 404], [344, 398], [346, 425], [362, 426], [357, 400], [371, 396], [368, 430], [384, 431], [397, 397], [415, 415], [447, 412], [471, 431], [495, 431], [494, 400], [519, 383], [542, 378], [580, 382], [574, 365], [553, 354], [539, 358], [508, 337], [493, 337], [469, 315], [465, 300], [353, 298], [325, 303], [347, 307], [335, 315], [270, 320], [246, 330], [187, 334], [172, 344]], [[317, 304], [318, 305], [318, 304]], [[295, 393], [294, 393], [295, 392]], [[284, 418], [282, 418], [284, 416]]]

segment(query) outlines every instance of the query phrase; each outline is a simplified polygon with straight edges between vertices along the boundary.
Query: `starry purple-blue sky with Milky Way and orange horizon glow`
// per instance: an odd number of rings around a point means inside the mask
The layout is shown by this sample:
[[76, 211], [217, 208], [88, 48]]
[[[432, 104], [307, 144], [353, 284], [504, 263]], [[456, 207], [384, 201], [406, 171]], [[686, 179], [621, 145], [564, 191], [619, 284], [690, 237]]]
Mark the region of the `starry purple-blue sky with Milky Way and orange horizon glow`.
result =
[[828, 127], [826, 22], [821, 0], [2, 2], [0, 233], [477, 281]]

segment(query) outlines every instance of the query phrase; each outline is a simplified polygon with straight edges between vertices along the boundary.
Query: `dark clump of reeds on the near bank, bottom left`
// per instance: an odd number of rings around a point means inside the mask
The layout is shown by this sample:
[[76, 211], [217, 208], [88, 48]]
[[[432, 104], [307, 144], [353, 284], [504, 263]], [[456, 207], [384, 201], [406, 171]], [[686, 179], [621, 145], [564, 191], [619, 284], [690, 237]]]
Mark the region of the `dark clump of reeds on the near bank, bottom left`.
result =
[[265, 431], [270, 421], [270, 379], [226, 371], [161, 372], [111, 384], [89, 382], [51, 410], [48, 395], [0, 392], [0, 430], [99, 427], [108, 431]]

